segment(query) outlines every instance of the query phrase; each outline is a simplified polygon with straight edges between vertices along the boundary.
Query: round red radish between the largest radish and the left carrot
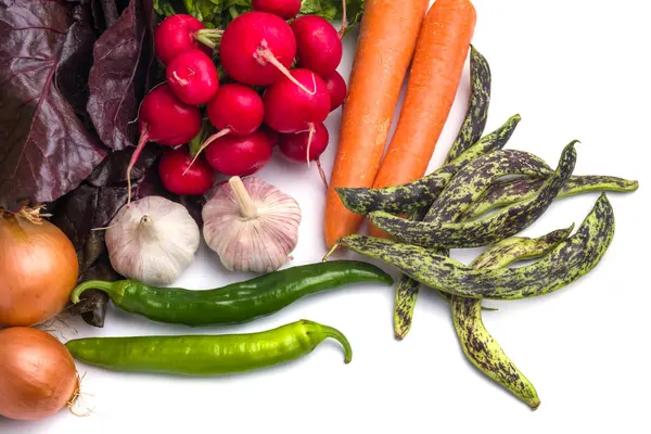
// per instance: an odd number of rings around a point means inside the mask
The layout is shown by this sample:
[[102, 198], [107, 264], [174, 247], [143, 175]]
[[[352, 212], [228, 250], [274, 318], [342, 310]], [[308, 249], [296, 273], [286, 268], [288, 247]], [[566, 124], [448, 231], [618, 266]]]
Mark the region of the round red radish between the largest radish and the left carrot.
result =
[[296, 60], [299, 67], [321, 77], [336, 69], [342, 61], [342, 40], [330, 22], [317, 15], [303, 15], [292, 23], [296, 37]]

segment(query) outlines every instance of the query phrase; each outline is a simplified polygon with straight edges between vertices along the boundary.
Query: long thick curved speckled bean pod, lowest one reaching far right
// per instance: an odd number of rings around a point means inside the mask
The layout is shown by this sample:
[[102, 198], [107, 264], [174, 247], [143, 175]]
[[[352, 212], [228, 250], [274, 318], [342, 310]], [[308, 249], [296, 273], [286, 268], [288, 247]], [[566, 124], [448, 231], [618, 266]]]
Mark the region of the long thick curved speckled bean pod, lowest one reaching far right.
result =
[[474, 269], [424, 247], [366, 235], [343, 237], [337, 246], [382, 260], [424, 285], [470, 298], [520, 299], [557, 291], [599, 264], [615, 232], [605, 194], [574, 235], [534, 264], [496, 270]]

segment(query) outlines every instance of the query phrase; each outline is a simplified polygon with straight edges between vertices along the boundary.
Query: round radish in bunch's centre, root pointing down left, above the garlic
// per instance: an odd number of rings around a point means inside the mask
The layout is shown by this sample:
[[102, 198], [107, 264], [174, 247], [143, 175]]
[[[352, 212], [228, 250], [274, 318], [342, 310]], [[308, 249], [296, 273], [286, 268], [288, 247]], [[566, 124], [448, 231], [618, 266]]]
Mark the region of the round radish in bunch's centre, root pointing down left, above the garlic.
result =
[[196, 156], [220, 137], [231, 133], [246, 136], [258, 129], [265, 117], [265, 103], [248, 86], [232, 82], [219, 88], [208, 102], [206, 112], [210, 124], [219, 131], [203, 142]]

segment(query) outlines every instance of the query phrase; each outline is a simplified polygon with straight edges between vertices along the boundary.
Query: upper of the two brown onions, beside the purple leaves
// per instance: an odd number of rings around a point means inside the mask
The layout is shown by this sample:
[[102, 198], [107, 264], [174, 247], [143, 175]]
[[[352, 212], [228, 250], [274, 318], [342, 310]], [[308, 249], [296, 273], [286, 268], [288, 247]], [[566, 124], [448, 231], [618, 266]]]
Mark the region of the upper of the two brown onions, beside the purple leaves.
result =
[[0, 209], [0, 326], [52, 319], [67, 304], [78, 273], [75, 247], [39, 209]]

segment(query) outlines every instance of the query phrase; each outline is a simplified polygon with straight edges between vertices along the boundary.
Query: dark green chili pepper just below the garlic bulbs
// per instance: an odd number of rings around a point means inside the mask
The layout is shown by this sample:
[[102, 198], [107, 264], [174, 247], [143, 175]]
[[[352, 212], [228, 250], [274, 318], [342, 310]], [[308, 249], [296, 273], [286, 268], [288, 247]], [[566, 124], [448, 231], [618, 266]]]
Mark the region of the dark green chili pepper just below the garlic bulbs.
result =
[[104, 291], [113, 304], [154, 321], [187, 324], [232, 324], [273, 314], [305, 295], [357, 282], [393, 284], [380, 268], [356, 260], [317, 263], [270, 272], [206, 291], [155, 288], [132, 280], [88, 281], [72, 294], [73, 303], [88, 289]]

